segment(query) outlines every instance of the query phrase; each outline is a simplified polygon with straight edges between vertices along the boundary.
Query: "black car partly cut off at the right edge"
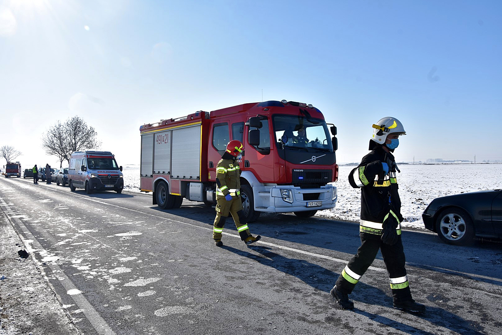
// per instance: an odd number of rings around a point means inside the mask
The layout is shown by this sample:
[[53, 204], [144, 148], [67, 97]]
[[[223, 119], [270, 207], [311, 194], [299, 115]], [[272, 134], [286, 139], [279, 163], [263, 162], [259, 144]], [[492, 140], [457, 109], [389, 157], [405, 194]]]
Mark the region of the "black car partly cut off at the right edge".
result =
[[502, 238], [502, 190], [436, 198], [422, 218], [425, 228], [448, 244], [468, 245], [474, 237]]

